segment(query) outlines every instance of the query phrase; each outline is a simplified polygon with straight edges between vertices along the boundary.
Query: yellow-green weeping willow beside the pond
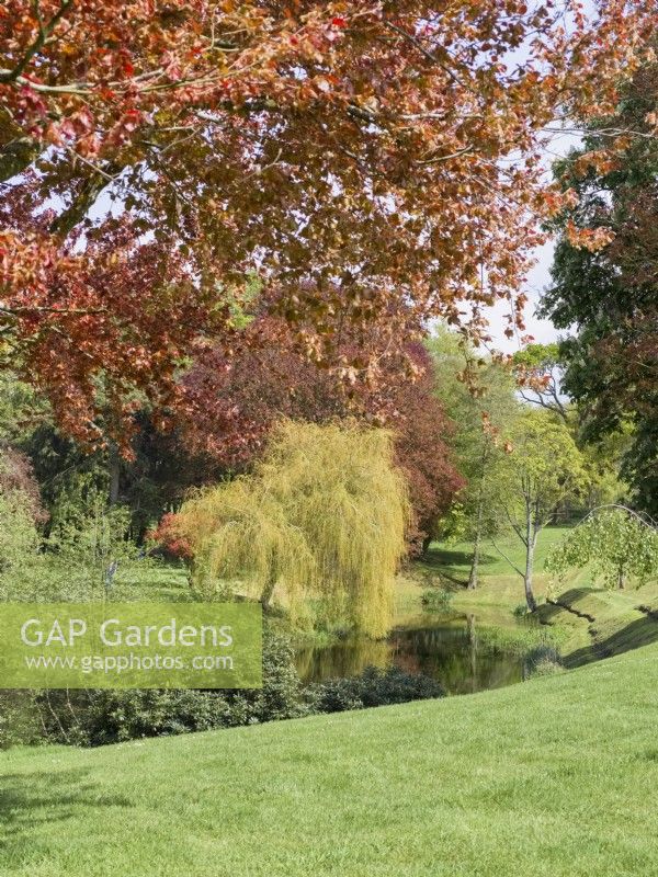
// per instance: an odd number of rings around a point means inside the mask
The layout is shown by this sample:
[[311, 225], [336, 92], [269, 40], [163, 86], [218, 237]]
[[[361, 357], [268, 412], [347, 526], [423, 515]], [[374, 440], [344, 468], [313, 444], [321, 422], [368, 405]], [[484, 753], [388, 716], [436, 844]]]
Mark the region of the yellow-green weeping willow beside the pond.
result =
[[317, 618], [379, 637], [408, 521], [388, 432], [286, 421], [254, 471], [191, 498], [178, 529], [205, 599], [279, 599], [293, 617], [313, 605]]

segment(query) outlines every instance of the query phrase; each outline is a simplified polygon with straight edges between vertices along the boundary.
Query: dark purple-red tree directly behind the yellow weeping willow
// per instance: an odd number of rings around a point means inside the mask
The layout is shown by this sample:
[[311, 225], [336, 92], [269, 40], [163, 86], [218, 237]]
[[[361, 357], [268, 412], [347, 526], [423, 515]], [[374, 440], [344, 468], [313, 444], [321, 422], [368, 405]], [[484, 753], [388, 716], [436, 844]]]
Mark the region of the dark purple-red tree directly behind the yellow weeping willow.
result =
[[[337, 384], [326, 368], [295, 350], [287, 327], [254, 319], [245, 330], [258, 335], [229, 354], [222, 346], [200, 357], [183, 378], [184, 406], [178, 422], [181, 444], [208, 459], [208, 472], [222, 467], [245, 471], [262, 455], [281, 418], [330, 423], [351, 417], [385, 425], [394, 434], [396, 465], [409, 486], [413, 550], [433, 534], [464, 481], [449, 446], [453, 424], [434, 395], [431, 358], [420, 344], [386, 357], [375, 381], [356, 376]], [[343, 332], [339, 355], [348, 361], [358, 346]], [[383, 353], [376, 338], [362, 348], [366, 358]]]

